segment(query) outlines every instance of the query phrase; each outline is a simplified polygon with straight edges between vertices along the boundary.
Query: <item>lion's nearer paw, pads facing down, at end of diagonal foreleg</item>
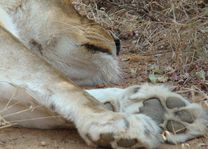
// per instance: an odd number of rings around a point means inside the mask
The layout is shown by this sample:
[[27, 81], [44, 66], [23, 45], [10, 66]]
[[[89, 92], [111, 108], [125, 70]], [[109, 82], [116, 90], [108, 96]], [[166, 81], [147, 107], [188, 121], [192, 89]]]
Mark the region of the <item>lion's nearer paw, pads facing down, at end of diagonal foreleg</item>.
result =
[[89, 145], [115, 149], [155, 148], [161, 142], [160, 128], [149, 117], [107, 112], [88, 117], [78, 125], [80, 135]]

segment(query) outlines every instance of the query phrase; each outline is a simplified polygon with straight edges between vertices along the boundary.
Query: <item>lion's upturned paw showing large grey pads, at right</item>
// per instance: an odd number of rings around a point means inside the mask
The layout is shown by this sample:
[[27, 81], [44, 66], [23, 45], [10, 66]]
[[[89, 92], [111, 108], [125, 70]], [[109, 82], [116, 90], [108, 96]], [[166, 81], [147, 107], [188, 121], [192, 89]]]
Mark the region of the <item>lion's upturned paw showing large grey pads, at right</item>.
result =
[[170, 143], [184, 142], [208, 133], [208, 113], [164, 86], [142, 85], [126, 89], [120, 111], [151, 117], [165, 132]]

